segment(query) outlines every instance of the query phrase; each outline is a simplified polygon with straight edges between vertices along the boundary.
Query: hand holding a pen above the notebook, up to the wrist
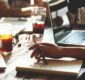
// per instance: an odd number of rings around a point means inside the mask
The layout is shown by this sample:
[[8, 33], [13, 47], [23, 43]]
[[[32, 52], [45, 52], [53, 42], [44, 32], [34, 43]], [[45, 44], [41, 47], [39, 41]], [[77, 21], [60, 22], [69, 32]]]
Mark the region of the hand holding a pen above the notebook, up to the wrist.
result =
[[35, 57], [37, 60], [40, 59], [41, 56], [39, 54], [40, 53], [39, 48], [43, 50], [43, 52], [45, 53], [45, 57], [50, 57], [50, 58], [62, 57], [62, 54], [61, 54], [62, 49], [56, 44], [37, 43], [29, 48], [29, 50], [33, 50], [31, 54], [31, 58]]

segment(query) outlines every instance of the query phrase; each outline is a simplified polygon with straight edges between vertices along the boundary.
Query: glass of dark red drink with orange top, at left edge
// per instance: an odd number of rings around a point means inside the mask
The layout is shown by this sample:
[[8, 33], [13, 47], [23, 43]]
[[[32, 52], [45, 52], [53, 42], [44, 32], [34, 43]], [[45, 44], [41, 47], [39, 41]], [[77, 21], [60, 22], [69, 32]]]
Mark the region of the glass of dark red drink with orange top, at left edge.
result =
[[0, 24], [0, 49], [3, 52], [12, 51], [13, 36], [10, 26], [8, 24]]

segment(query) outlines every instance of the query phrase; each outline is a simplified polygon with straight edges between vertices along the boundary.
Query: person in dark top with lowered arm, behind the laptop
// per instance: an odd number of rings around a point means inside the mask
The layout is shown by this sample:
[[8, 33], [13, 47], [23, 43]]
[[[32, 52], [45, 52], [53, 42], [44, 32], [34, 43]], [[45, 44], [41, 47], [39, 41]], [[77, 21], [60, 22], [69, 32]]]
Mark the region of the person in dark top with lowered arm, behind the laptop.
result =
[[69, 0], [68, 12], [69, 19], [72, 26], [77, 25], [78, 9], [85, 6], [85, 0]]

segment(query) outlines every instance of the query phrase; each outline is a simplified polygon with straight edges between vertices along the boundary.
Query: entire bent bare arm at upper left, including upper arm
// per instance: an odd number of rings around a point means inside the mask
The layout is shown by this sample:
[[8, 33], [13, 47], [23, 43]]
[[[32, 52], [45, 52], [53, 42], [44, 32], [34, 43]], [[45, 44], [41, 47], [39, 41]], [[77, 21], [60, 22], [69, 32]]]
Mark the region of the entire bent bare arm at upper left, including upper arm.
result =
[[28, 17], [31, 15], [31, 10], [13, 9], [6, 1], [0, 1], [0, 17]]

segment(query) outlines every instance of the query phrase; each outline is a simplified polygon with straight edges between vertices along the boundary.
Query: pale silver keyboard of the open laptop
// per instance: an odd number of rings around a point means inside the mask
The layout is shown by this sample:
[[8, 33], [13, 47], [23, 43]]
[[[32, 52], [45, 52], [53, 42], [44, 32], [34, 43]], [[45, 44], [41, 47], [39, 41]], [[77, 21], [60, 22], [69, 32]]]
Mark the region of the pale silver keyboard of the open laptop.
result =
[[83, 31], [72, 31], [70, 34], [68, 34], [65, 38], [63, 38], [61, 41], [62, 43], [68, 43], [68, 44], [80, 44], [83, 41], [85, 41], [85, 32]]

